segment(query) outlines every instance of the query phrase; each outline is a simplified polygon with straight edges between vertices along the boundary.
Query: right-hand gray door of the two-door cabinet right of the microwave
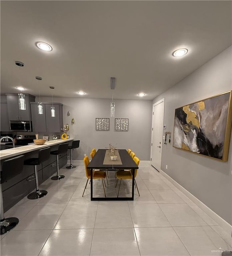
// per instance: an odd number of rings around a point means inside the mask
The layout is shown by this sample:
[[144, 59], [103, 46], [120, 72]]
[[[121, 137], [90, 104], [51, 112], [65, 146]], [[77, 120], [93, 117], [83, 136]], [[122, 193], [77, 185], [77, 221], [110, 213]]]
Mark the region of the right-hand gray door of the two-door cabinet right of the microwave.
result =
[[59, 105], [54, 104], [53, 106], [55, 107], [55, 117], [51, 117], [52, 104], [45, 104], [47, 132], [62, 132], [60, 114], [63, 115], [63, 113], [60, 113]]

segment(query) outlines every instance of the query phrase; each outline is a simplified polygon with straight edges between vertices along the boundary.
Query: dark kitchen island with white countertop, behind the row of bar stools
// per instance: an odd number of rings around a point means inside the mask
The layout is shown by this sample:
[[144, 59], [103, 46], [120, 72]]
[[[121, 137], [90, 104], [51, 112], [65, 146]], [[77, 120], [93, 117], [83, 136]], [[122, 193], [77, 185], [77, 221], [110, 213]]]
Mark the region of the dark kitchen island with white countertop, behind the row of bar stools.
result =
[[[28, 158], [38, 157], [38, 150], [42, 148], [50, 147], [52, 150], [57, 150], [59, 144], [69, 143], [73, 139], [58, 139], [47, 141], [43, 145], [26, 145], [18, 148], [5, 149], [0, 151], [0, 162], [1, 168], [4, 160], [7, 160], [12, 157], [24, 155], [25, 160]], [[62, 168], [67, 164], [67, 153], [59, 155], [59, 168]], [[53, 175], [57, 170], [56, 166], [56, 156], [50, 155], [49, 160], [43, 162], [41, 165], [38, 165], [38, 180], [39, 184], [43, 183], [51, 175]], [[10, 172], [11, 170], [9, 170]], [[9, 181], [2, 184], [3, 191], [3, 202], [4, 202], [4, 211], [7, 211], [9, 208], [14, 206], [22, 198], [28, 195], [35, 189], [35, 181], [30, 181], [34, 174], [34, 166], [24, 165], [24, 169], [21, 174], [10, 179]], [[59, 181], [53, 181], [59, 182]], [[49, 191], [48, 191], [49, 193]]]

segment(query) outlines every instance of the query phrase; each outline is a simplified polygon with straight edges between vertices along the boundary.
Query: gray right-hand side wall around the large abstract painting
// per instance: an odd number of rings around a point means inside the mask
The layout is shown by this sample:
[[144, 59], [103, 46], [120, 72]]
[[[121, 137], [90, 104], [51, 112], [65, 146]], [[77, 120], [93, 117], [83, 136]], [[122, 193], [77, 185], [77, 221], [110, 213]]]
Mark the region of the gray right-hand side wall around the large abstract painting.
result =
[[[165, 131], [172, 132], [175, 108], [232, 90], [232, 47], [153, 100], [165, 98]], [[232, 143], [228, 162], [220, 162], [170, 145], [162, 147], [161, 169], [232, 224]], [[166, 170], [166, 164], [168, 169]]]

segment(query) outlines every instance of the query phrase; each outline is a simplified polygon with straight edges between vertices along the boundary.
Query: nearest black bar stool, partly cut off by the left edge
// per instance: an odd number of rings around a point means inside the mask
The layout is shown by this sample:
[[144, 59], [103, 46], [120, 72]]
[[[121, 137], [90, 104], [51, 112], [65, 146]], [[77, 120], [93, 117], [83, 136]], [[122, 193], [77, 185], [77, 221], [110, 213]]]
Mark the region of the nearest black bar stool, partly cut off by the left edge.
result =
[[[11, 158], [9, 160], [5, 160], [3, 162], [2, 171], [1, 171], [1, 181], [0, 183], [4, 183], [8, 181], [9, 179], [17, 176], [22, 172], [23, 169], [23, 161], [24, 156], [17, 156], [14, 158]], [[1, 220], [0, 220], [0, 226], [1, 226], [1, 232], [0, 234], [3, 235], [9, 231], [11, 231], [14, 227], [18, 225], [18, 218], [7, 218], [4, 217], [4, 209], [3, 209], [3, 191], [1, 187]]]

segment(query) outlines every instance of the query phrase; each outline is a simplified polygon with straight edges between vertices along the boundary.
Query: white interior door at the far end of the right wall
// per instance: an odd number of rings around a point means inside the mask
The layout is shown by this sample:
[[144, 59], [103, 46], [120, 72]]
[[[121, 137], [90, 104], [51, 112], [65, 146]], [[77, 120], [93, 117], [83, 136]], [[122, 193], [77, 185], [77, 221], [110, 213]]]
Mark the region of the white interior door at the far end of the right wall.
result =
[[161, 168], [164, 98], [153, 104], [151, 165]]

